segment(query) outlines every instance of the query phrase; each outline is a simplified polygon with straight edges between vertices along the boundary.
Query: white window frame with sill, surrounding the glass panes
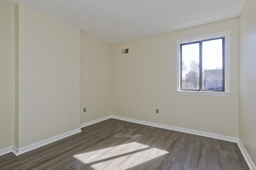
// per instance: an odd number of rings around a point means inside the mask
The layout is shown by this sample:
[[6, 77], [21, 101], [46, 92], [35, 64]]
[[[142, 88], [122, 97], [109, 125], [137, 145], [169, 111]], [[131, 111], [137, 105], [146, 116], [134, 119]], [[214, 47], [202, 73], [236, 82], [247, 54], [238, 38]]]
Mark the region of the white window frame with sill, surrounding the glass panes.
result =
[[[180, 90], [180, 44], [183, 43], [189, 43], [194, 41], [202, 41], [206, 39], [212, 39], [212, 38], [220, 38], [225, 37], [225, 51], [224, 51], [224, 75], [225, 75], [225, 92], [215, 92], [215, 91], [188, 91], [188, 90]], [[198, 37], [190, 37], [185, 39], [178, 39], [176, 41], [176, 56], [177, 56], [177, 63], [176, 63], [176, 94], [181, 95], [200, 95], [200, 96], [230, 96], [230, 31], [223, 31], [218, 33], [212, 33], [208, 35], [202, 35]]]

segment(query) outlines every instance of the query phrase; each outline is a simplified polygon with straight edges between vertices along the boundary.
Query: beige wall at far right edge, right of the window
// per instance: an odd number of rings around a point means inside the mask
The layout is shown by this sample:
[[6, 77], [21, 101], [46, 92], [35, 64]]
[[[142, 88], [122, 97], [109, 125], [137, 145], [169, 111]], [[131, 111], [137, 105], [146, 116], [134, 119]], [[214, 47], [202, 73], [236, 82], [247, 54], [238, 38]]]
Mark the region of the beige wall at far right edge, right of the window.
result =
[[[256, 0], [240, 14], [239, 139], [256, 165]], [[245, 127], [245, 131], [243, 131]]]

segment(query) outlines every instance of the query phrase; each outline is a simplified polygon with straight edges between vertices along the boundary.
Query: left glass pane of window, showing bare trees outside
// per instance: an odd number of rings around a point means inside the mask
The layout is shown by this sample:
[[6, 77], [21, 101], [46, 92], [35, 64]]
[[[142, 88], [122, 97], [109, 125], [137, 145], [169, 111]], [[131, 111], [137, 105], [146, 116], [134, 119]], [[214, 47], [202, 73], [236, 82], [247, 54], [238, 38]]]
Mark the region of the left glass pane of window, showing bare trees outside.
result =
[[199, 43], [182, 45], [182, 90], [199, 90]]

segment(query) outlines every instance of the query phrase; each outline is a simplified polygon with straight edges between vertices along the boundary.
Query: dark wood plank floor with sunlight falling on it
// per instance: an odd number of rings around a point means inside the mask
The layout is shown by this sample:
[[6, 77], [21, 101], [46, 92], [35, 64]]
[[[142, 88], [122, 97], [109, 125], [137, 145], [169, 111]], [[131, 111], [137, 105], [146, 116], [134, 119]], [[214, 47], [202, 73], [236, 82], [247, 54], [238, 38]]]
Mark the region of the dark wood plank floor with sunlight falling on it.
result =
[[249, 170], [236, 143], [108, 119], [15, 156], [1, 170]]

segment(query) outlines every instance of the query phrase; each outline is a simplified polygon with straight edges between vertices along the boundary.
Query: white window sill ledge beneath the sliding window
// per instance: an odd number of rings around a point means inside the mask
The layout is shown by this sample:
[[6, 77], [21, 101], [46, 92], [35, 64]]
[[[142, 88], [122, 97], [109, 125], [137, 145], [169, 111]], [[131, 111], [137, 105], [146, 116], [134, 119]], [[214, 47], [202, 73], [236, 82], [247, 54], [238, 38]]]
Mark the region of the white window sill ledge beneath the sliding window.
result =
[[230, 92], [206, 92], [206, 91], [176, 91], [176, 94], [195, 95], [195, 96], [224, 96], [229, 97]]

